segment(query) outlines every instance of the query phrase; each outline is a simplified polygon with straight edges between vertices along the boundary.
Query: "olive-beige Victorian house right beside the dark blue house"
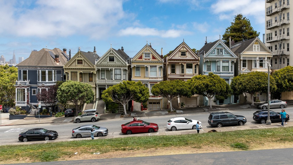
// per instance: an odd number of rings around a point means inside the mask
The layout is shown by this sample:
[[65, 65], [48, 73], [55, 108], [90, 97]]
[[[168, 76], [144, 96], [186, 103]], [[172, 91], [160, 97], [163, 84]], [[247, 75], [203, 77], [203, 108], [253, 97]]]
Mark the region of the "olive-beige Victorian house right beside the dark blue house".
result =
[[[94, 92], [93, 102], [85, 104], [82, 110], [96, 109], [97, 108], [97, 93], [96, 93], [96, 61], [100, 58], [96, 54], [96, 47], [93, 52], [79, 51], [71, 58], [71, 52], [69, 50], [70, 60], [64, 65], [64, 73], [66, 80], [79, 81], [91, 85]], [[73, 107], [72, 103], [67, 103], [69, 107]], [[102, 113], [101, 111], [100, 113]]]

